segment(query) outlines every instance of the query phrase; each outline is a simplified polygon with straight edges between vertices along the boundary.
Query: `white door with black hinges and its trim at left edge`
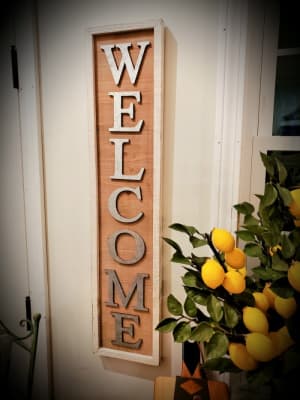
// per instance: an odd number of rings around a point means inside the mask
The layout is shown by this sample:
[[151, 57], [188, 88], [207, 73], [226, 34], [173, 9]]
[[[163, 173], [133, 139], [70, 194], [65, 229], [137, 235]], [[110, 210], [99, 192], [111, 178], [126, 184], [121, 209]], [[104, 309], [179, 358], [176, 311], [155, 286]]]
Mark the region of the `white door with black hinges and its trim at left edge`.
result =
[[[41, 313], [34, 399], [48, 399], [48, 313], [34, 13], [3, 8], [0, 23], [0, 319], [18, 336]], [[24, 392], [28, 357], [13, 349], [12, 387]]]

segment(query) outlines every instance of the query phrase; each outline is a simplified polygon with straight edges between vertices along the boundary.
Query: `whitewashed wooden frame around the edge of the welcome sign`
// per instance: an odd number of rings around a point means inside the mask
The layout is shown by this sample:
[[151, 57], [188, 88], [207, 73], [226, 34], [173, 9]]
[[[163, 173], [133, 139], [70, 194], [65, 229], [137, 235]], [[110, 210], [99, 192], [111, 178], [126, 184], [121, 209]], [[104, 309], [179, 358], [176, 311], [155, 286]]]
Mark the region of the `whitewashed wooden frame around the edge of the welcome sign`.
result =
[[[93, 36], [103, 33], [154, 31], [154, 143], [153, 143], [153, 343], [152, 355], [140, 355], [108, 348], [101, 348], [99, 341], [99, 255], [98, 255], [98, 194], [97, 194], [97, 144], [94, 96]], [[148, 365], [158, 365], [160, 360], [159, 332], [155, 326], [160, 320], [161, 294], [161, 176], [162, 176], [162, 128], [163, 128], [163, 71], [164, 71], [164, 24], [162, 20], [151, 20], [125, 25], [93, 27], [87, 30], [87, 85], [91, 177], [91, 290], [93, 314], [93, 350], [100, 356], [119, 358]]]

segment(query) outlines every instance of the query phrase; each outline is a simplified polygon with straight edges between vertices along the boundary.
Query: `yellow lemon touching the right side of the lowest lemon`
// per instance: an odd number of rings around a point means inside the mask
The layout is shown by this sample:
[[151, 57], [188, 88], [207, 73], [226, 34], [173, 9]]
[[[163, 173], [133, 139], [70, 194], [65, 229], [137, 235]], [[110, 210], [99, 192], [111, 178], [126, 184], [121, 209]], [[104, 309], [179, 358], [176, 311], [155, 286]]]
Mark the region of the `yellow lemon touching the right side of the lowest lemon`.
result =
[[246, 349], [256, 361], [270, 361], [276, 356], [272, 340], [260, 332], [252, 332], [246, 336]]

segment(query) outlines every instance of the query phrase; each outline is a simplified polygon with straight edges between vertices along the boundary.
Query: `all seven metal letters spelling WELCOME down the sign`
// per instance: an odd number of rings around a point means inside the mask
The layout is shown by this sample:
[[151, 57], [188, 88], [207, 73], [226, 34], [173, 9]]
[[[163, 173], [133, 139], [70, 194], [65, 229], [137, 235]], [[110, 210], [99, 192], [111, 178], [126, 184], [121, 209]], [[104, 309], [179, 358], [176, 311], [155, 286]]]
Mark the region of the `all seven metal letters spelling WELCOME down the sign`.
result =
[[[101, 51], [104, 52], [110, 72], [113, 77], [115, 87], [119, 87], [124, 74], [127, 72], [129, 80], [134, 90], [111, 90], [107, 92], [107, 96], [113, 100], [113, 126], [108, 131], [112, 135], [109, 142], [114, 146], [114, 171], [109, 179], [111, 181], [120, 182], [120, 187], [112, 190], [108, 197], [108, 211], [115, 221], [124, 225], [123, 229], [118, 229], [107, 238], [108, 252], [112, 260], [114, 260], [120, 268], [131, 268], [131, 266], [141, 261], [146, 252], [145, 240], [141, 233], [133, 230], [131, 224], [135, 224], [135, 228], [144, 218], [144, 212], [139, 211], [136, 215], [126, 215], [120, 211], [119, 201], [122, 195], [131, 194], [139, 202], [143, 201], [142, 182], [146, 172], [146, 168], [141, 165], [134, 173], [126, 174], [125, 170], [125, 148], [130, 151], [130, 145], [134, 139], [124, 137], [127, 134], [141, 135], [144, 127], [144, 119], [136, 116], [137, 106], [141, 107], [142, 93], [136, 90], [136, 83], [141, 73], [144, 58], [150, 41], [138, 41], [138, 56], [136, 62], [132, 61], [130, 51], [133, 48], [131, 42], [102, 44]], [[117, 65], [114, 54], [118, 53], [120, 59]], [[127, 104], [126, 106], [124, 104]], [[125, 121], [126, 117], [126, 122]], [[130, 121], [130, 123], [128, 123]], [[134, 122], [135, 121], [135, 122]], [[115, 137], [120, 135], [121, 137]], [[132, 141], [132, 142], [131, 142]], [[128, 150], [129, 149], [129, 150]], [[122, 182], [137, 182], [135, 186], [122, 184]], [[134, 243], [134, 254], [130, 258], [119, 254], [118, 243], [123, 236], [129, 236]], [[112, 345], [121, 346], [128, 349], [139, 349], [142, 346], [143, 338], [135, 338], [135, 329], [140, 325], [140, 312], [149, 312], [149, 308], [145, 306], [145, 281], [150, 278], [149, 273], [137, 272], [131, 278], [129, 289], [124, 290], [123, 283], [120, 279], [118, 270], [112, 268], [104, 269], [107, 281], [107, 298], [104, 301], [105, 307], [127, 309], [135, 298], [134, 311], [128, 312], [111, 312], [114, 318], [114, 336], [111, 340]], [[132, 276], [132, 275], [130, 275]]]

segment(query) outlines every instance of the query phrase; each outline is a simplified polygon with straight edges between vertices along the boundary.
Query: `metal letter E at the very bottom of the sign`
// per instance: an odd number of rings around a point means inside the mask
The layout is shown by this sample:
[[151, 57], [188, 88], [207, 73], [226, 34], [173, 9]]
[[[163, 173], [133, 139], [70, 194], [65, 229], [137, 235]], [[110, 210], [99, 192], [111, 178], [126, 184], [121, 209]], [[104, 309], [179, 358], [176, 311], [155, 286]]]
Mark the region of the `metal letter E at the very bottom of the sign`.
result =
[[124, 326], [123, 321], [125, 319], [129, 319], [134, 321], [136, 324], [140, 324], [140, 317], [138, 315], [132, 314], [121, 314], [121, 313], [111, 313], [111, 315], [115, 318], [115, 329], [116, 329], [116, 338], [112, 340], [112, 344], [116, 346], [128, 347], [129, 349], [139, 349], [143, 343], [143, 339], [139, 339], [136, 342], [126, 342], [124, 340], [124, 334], [134, 337], [134, 325], [130, 324], [129, 326]]

